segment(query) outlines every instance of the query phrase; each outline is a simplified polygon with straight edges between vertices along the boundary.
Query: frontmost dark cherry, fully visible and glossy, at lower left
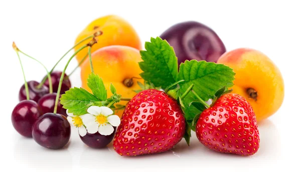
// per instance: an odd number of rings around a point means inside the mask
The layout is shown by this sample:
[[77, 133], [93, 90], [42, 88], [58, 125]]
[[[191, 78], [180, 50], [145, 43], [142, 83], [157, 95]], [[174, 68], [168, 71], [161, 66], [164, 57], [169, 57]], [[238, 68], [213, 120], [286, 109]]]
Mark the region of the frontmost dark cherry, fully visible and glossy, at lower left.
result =
[[58, 149], [68, 143], [71, 127], [64, 115], [46, 113], [33, 125], [32, 135], [41, 146]]

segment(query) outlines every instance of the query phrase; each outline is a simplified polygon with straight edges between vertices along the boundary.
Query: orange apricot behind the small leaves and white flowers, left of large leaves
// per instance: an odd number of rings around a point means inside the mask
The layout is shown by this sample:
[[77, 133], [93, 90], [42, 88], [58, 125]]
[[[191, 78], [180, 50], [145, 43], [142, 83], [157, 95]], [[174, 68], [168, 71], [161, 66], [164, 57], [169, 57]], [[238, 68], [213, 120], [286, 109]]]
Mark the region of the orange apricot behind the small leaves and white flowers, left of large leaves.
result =
[[[138, 62], [141, 61], [139, 50], [121, 45], [111, 45], [102, 47], [91, 54], [94, 73], [98, 74], [107, 89], [108, 97], [112, 95], [109, 90], [112, 83], [118, 94], [122, 97], [132, 98], [140, 89], [137, 81], [143, 83], [140, 77], [142, 70]], [[81, 66], [82, 87], [92, 92], [87, 85], [88, 75], [91, 73], [90, 62], [86, 59]], [[120, 104], [126, 104], [121, 101]], [[119, 110], [117, 115], [121, 117], [123, 110]]]

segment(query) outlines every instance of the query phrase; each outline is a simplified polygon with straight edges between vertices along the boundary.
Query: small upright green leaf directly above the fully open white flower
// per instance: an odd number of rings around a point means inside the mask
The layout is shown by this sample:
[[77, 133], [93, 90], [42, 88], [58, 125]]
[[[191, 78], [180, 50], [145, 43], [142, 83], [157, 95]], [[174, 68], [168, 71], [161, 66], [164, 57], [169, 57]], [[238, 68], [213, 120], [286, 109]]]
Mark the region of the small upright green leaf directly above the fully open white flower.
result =
[[106, 100], [107, 92], [102, 79], [97, 74], [91, 73], [87, 81], [88, 87], [92, 90], [93, 94], [100, 100]]

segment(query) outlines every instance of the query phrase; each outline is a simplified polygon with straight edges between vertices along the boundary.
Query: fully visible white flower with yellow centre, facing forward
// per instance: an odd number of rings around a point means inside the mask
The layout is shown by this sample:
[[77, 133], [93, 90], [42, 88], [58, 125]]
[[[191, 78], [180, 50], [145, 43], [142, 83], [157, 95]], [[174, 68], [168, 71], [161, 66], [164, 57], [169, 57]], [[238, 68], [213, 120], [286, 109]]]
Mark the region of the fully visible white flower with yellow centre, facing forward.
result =
[[87, 110], [89, 115], [82, 117], [83, 123], [89, 133], [97, 131], [102, 135], [110, 135], [113, 133], [113, 126], [120, 124], [118, 115], [112, 115], [113, 110], [106, 106], [90, 106]]

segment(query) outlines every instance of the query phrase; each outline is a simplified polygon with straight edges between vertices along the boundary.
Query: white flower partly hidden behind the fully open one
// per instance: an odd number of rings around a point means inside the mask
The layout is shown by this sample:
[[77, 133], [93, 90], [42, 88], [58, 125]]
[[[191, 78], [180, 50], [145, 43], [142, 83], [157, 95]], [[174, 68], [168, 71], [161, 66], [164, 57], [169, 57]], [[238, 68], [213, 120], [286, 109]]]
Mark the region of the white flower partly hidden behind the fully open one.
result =
[[69, 113], [68, 109], [67, 109], [67, 119], [69, 121], [70, 124], [74, 125], [76, 128], [78, 128], [78, 133], [80, 134], [80, 136], [85, 136], [87, 134], [87, 129], [84, 126], [83, 123], [83, 118], [88, 117], [88, 115], [91, 114], [83, 114], [83, 115], [74, 115], [73, 113]]

